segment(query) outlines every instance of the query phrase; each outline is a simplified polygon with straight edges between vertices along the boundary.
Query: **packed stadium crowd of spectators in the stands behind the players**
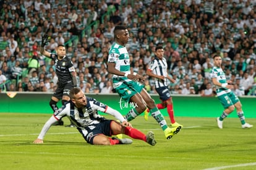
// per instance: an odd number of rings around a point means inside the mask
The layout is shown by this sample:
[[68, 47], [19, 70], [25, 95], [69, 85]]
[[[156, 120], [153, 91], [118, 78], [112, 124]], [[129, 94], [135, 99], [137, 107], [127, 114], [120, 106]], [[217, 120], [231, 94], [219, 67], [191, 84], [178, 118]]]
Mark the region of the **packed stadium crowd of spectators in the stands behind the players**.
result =
[[66, 46], [85, 93], [114, 93], [106, 61], [114, 27], [122, 24], [130, 32], [131, 66], [149, 93], [156, 93], [154, 80], [145, 72], [161, 44], [176, 79], [171, 93], [215, 95], [210, 70], [220, 54], [236, 95], [256, 95], [255, 12], [254, 0], [0, 1], [0, 88], [54, 91], [54, 62], [39, 52], [48, 34], [46, 50]]

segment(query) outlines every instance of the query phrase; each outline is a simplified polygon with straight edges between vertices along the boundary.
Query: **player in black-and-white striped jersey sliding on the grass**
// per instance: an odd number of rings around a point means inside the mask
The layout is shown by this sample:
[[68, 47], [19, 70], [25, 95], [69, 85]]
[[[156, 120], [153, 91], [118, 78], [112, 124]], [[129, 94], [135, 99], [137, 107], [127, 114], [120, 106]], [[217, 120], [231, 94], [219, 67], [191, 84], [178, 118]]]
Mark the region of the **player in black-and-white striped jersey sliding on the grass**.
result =
[[[122, 117], [121, 113], [93, 98], [85, 96], [80, 88], [72, 88], [72, 90], [70, 90], [70, 99], [68, 103], [58, 109], [45, 123], [40, 135], [33, 143], [43, 143], [43, 138], [51, 125], [62, 117], [67, 116], [75, 127], [77, 127], [87, 143], [92, 145], [132, 143], [130, 138], [111, 138], [111, 135], [117, 134], [125, 134], [129, 137], [143, 140], [153, 146], [156, 144], [153, 132], [150, 131], [145, 135], [139, 130], [134, 129], [132, 125]], [[105, 119], [105, 117], [98, 114], [98, 111], [116, 117], [122, 124], [117, 121]]]

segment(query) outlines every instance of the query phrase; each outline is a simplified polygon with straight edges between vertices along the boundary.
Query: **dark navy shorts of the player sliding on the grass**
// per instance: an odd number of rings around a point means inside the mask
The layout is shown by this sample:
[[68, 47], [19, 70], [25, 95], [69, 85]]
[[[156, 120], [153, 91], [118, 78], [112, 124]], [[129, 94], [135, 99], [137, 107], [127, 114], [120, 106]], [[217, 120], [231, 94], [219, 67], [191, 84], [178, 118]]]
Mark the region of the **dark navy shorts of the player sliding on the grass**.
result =
[[[83, 136], [85, 138], [87, 143], [91, 143], [93, 145], [93, 138], [97, 135], [103, 134], [108, 137], [111, 137], [111, 127], [110, 124], [113, 120], [103, 120], [100, 122], [100, 124], [95, 125], [95, 128], [91, 130], [90, 128], [86, 128], [88, 134]], [[83, 134], [82, 134], [83, 135]]]

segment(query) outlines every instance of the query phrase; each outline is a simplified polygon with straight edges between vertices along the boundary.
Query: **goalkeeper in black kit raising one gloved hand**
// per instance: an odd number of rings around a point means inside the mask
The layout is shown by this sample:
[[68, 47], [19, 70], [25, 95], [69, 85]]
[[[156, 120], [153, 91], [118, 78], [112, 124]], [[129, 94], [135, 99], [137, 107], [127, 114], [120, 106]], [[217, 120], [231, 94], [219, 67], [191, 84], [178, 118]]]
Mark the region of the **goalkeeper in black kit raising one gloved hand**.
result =
[[[55, 53], [49, 53], [45, 50], [45, 45], [48, 43], [48, 35], [42, 37], [40, 53], [49, 57], [54, 61], [56, 74], [58, 76], [57, 89], [54, 91], [49, 105], [53, 109], [53, 113], [58, 111], [57, 103], [62, 100], [62, 105], [70, 100], [69, 92], [71, 88], [77, 87], [77, 80], [75, 78], [75, 67], [69, 57], [66, 57], [66, 48], [64, 45], [58, 45]], [[58, 121], [58, 125], [63, 125], [62, 120]], [[74, 127], [73, 124], [67, 127]]]

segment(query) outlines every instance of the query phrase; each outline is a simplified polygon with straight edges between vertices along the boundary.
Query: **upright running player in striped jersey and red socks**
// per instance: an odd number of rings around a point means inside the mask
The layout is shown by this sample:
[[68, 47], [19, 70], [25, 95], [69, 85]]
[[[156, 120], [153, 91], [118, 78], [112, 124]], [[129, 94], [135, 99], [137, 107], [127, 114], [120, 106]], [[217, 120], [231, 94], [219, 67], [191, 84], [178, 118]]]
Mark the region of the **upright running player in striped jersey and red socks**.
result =
[[[167, 79], [172, 83], [175, 83], [175, 80], [172, 79], [167, 72], [167, 62], [164, 56], [163, 46], [156, 46], [155, 49], [155, 59], [151, 62], [150, 67], [147, 69], [147, 75], [155, 78], [155, 89], [162, 103], [156, 104], [158, 109], [167, 108], [169, 118], [171, 119], [172, 127], [179, 127], [182, 125], [177, 123], [174, 119], [173, 111], [173, 100], [171, 98], [171, 93], [168, 90]], [[145, 111], [145, 119], [147, 120], [147, 114], [149, 109]]]

